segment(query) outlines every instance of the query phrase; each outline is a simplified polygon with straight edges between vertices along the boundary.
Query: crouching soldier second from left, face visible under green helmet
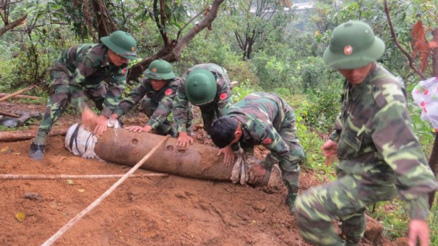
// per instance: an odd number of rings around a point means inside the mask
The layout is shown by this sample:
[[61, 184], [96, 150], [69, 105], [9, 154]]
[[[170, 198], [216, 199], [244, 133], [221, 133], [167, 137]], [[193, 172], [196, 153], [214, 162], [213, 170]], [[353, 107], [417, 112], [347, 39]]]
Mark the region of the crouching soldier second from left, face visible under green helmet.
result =
[[[149, 120], [144, 127], [128, 126], [126, 129], [133, 132], [150, 132], [155, 129], [159, 135], [170, 134], [176, 138], [178, 132], [167, 120], [167, 116], [173, 108], [173, 100], [181, 79], [172, 72], [170, 63], [161, 59], [153, 61], [144, 71], [144, 76], [141, 83], [118, 104], [110, 119], [115, 120], [125, 115], [146, 95], [143, 99], [143, 111]], [[186, 122], [188, 127], [192, 124], [192, 118], [189, 109]]]

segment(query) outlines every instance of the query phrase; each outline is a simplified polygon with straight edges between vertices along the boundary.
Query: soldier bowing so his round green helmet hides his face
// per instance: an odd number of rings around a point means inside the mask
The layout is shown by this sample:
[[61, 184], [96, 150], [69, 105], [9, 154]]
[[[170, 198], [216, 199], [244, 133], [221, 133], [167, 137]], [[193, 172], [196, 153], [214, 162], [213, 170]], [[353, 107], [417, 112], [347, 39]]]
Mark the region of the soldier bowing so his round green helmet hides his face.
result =
[[[223, 115], [223, 110], [232, 104], [231, 83], [226, 70], [216, 64], [199, 64], [188, 69], [181, 77], [173, 109], [179, 137], [177, 146], [189, 148], [193, 139], [187, 134], [187, 110], [190, 103], [201, 109], [204, 129], [210, 134], [213, 120]], [[231, 158], [233, 153], [228, 153]]]

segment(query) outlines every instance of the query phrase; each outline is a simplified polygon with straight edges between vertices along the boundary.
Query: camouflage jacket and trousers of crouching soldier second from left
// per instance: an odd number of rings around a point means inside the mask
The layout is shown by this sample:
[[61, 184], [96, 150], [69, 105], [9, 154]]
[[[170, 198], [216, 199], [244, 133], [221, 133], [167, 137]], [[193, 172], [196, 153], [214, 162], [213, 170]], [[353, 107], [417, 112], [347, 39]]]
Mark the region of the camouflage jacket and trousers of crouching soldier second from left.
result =
[[[169, 80], [160, 90], [155, 91], [148, 78], [143, 77], [141, 83], [120, 102], [114, 113], [119, 116], [125, 115], [146, 95], [143, 99], [143, 111], [149, 117], [146, 125], [151, 126], [160, 135], [167, 135], [171, 127], [167, 116], [173, 108], [173, 101], [180, 83], [181, 79], [175, 77]], [[192, 118], [192, 111], [189, 107], [186, 122], [187, 128], [190, 128], [192, 125]]]

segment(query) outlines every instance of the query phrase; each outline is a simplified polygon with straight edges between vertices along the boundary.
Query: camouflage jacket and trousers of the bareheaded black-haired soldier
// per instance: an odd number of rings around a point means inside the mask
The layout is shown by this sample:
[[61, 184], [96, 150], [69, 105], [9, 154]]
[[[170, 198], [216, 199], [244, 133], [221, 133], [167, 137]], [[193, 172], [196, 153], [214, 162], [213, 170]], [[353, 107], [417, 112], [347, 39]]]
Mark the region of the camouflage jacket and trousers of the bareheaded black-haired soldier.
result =
[[253, 153], [261, 144], [271, 152], [264, 164], [279, 164], [283, 183], [287, 187], [287, 204], [293, 207], [298, 195], [300, 165], [305, 158], [297, 138], [296, 118], [292, 108], [278, 95], [251, 93], [228, 109], [224, 117], [236, 118], [242, 127], [239, 140], [245, 152]]

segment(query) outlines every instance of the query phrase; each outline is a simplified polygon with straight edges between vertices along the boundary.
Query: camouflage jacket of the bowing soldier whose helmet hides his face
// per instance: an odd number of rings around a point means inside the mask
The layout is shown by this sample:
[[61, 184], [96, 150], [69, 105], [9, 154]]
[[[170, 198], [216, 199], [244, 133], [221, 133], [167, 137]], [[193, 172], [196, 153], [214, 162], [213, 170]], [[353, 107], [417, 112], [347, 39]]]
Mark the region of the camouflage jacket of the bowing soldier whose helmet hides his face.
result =
[[174, 109], [173, 109], [173, 118], [177, 124], [178, 132], [185, 132], [186, 122], [187, 122], [187, 112], [190, 110], [190, 102], [186, 96], [185, 82], [187, 76], [195, 69], [204, 68], [213, 73], [216, 77], [216, 81], [218, 84], [216, 97], [211, 102], [217, 105], [219, 115], [217, 117], [221, 117], [223, 115], [223, 111], [231, 106], [232, 98], [231, 98], [231, 83], [228, 79], [228, 75], [226, 70], [222, 67], [219, 67], [213, 63], [207, 64], [199, 64], [188, 69], [183, 76], [181, 77], [181, 86], [178, 89], [177, 96], [174, 101]]

